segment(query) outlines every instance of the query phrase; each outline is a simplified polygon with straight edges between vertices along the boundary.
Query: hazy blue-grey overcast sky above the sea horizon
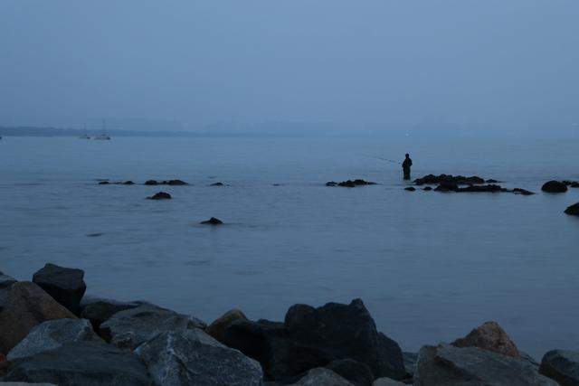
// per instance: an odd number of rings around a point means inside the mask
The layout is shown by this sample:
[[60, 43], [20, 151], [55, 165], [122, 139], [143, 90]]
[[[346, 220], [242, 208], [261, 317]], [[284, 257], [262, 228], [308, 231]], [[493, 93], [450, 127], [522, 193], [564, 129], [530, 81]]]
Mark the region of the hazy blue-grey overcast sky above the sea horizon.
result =
[[576, 0], [0, 1], [0, 126], [549, 130], [578, 69]]

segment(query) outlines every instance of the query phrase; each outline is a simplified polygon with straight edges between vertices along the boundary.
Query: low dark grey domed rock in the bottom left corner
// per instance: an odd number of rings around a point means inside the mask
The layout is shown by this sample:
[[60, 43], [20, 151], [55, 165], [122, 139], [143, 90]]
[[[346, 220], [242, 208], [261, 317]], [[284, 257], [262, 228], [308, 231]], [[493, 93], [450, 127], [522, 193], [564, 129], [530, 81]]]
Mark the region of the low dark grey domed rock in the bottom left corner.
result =
[[50, 382], [59, 386], [152, 385], [135, 353], [100, 342], [73, 342], [14, 361], [3, 381]]

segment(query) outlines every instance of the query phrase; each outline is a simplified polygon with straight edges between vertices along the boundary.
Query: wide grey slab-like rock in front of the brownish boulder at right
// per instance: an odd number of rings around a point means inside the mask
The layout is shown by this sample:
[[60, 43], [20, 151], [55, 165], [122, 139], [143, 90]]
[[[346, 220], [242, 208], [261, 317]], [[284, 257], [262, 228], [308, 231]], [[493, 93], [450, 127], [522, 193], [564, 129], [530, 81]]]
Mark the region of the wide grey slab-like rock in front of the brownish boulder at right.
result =
[[418, 353], [415, 386], [555, 386], [527, 361], [478, 347], [423, 346]]

